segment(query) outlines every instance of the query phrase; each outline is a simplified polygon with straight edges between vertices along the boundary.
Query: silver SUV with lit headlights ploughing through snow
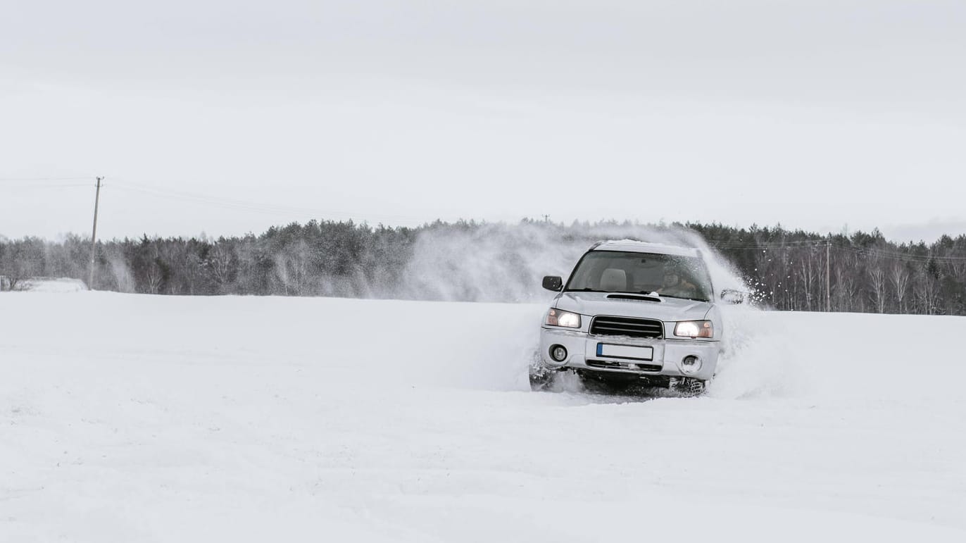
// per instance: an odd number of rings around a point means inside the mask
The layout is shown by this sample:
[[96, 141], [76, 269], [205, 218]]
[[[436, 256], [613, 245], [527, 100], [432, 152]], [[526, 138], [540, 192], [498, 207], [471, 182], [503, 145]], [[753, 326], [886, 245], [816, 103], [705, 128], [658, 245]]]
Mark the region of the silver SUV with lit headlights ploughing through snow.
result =
[[597, 243], [566, 284], [547, 276], [543, 286], [559, 294], [540, 330], [540, 359], [530, 368], [534, 389], [572, 371], [584, 384], [696, 395], [714, 377], [724, 330], [698, 249]]

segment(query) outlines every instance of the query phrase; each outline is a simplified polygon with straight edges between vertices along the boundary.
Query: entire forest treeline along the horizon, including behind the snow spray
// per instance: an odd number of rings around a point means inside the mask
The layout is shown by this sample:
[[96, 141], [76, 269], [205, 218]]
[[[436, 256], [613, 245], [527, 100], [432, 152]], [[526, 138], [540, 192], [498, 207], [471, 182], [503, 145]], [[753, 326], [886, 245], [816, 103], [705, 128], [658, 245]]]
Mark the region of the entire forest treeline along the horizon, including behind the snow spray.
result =
[[[526, 219], [416, 228], [310, 221], [261, 235], [99, 242], [94, 288], [164, 295], [281, 295], [424, 300], [544, 300], [544, 273], [569, 272], [602, 239], [704, 243], [760, 303], [782, 310], [966, 314], [966, 237], [894, 243], [872, 233], [781, 227], [640, 225]], [[90, 240], [0, 238], [0, 286], [35, 276], [87, 279]]]

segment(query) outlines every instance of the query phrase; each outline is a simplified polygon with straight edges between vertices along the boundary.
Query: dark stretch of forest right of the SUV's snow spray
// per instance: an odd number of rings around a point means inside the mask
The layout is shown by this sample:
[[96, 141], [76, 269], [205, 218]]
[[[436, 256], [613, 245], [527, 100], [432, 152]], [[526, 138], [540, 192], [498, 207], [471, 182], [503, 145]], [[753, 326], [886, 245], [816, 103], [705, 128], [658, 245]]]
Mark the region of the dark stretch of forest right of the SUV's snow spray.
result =
[[776, 309], [966, 314], [966, 236], [894, 243], [872, 233], [689, 224]]

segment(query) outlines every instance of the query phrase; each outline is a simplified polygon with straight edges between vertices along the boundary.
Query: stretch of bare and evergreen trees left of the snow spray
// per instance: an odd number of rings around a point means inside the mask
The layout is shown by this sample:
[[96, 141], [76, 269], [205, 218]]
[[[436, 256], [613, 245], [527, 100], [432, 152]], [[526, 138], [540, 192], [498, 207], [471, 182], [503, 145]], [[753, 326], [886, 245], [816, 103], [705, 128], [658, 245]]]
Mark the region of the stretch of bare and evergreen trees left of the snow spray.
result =
[[[148, 238], [97, 244], [96, 290], [188, 296], [364, 297], [391, 284], [409, 259], [416, 230], [311, 221], [260, 236]], [[91, 240], [68, 236], [0, 241], [0, 275], [9, 287], [33, 276], [87, 281]]]

